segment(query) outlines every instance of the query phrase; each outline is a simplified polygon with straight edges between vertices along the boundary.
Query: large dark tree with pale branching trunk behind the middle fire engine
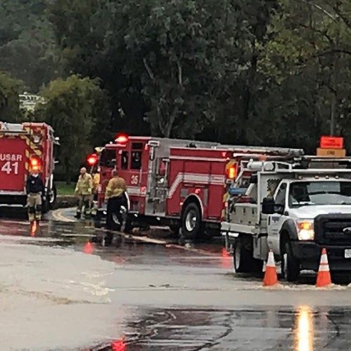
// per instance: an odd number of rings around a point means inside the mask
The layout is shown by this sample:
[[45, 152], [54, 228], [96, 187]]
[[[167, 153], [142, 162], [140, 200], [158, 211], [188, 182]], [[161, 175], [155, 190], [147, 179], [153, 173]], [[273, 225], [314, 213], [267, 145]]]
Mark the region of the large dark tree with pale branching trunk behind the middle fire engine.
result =
[[115, 115], [122, 107], [129, 117], [128, 107], [138, 105], [152, 134], [194, 137], [223, 102], [240, 105], [232, 119], [249, 114], [256, 53], [248, 57], [248, 48], [263, 37], [274, 1], [246, 3], [58, 0], [50, 18], [67, 67], [100, 77]]

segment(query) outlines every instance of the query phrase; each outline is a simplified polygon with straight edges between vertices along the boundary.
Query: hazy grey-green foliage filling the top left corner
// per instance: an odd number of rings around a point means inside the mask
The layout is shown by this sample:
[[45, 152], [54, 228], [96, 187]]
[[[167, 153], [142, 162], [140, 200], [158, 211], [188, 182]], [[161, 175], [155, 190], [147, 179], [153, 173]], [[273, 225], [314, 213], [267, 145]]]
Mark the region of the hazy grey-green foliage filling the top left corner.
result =
[[32, 90], [60, 74], [46, 0], [0, 0], [0, 69]]

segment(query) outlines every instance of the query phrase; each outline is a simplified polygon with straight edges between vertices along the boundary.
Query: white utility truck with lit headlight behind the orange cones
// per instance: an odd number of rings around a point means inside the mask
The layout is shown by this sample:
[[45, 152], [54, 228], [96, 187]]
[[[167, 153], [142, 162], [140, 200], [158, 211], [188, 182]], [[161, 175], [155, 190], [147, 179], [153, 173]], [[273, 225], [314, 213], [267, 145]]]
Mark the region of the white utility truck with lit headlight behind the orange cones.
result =
[[317, 272], [324, 247], [331, 271], [351, 271], [351, 158], [246, 159], [241, 169], [252, 172], [250, 185], [221, 224], [236, 272], [262, 270], [272, 249], [293, 282]]

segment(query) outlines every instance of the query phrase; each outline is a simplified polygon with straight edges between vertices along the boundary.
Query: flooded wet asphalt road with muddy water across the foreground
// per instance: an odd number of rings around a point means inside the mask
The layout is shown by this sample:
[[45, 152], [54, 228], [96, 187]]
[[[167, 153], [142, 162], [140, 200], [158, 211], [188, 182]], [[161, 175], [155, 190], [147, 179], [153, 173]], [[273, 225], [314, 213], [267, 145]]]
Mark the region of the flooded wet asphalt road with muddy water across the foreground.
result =
[[33, 236], [0, 220], [1, 350], [112, 350], [122, 336], [126, 350], [351, 349], [348, 286], [317, 290], [307, 275], [264, 289], [232, 273], [219, 241], [106, 248], [88, 221], [54, 215]]

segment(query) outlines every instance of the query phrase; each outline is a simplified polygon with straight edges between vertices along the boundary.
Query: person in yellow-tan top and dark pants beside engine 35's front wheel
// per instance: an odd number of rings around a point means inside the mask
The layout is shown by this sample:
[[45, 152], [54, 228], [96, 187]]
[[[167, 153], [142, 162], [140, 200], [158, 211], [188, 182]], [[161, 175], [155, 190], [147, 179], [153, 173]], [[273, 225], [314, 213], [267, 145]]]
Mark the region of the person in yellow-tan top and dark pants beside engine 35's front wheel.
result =
[[107, 184], [105, 191], [105, 201], [107, 200], [107, 229], [114, 229], [114, 216], [117, 216], [119, 223], [122, 224], [120, 209], [121, 206], [125, 205], [124, 192], [126, 190], [126, 180], [119, 177], [117, 169], [114, 169], [112, 171], [112, 178]]

